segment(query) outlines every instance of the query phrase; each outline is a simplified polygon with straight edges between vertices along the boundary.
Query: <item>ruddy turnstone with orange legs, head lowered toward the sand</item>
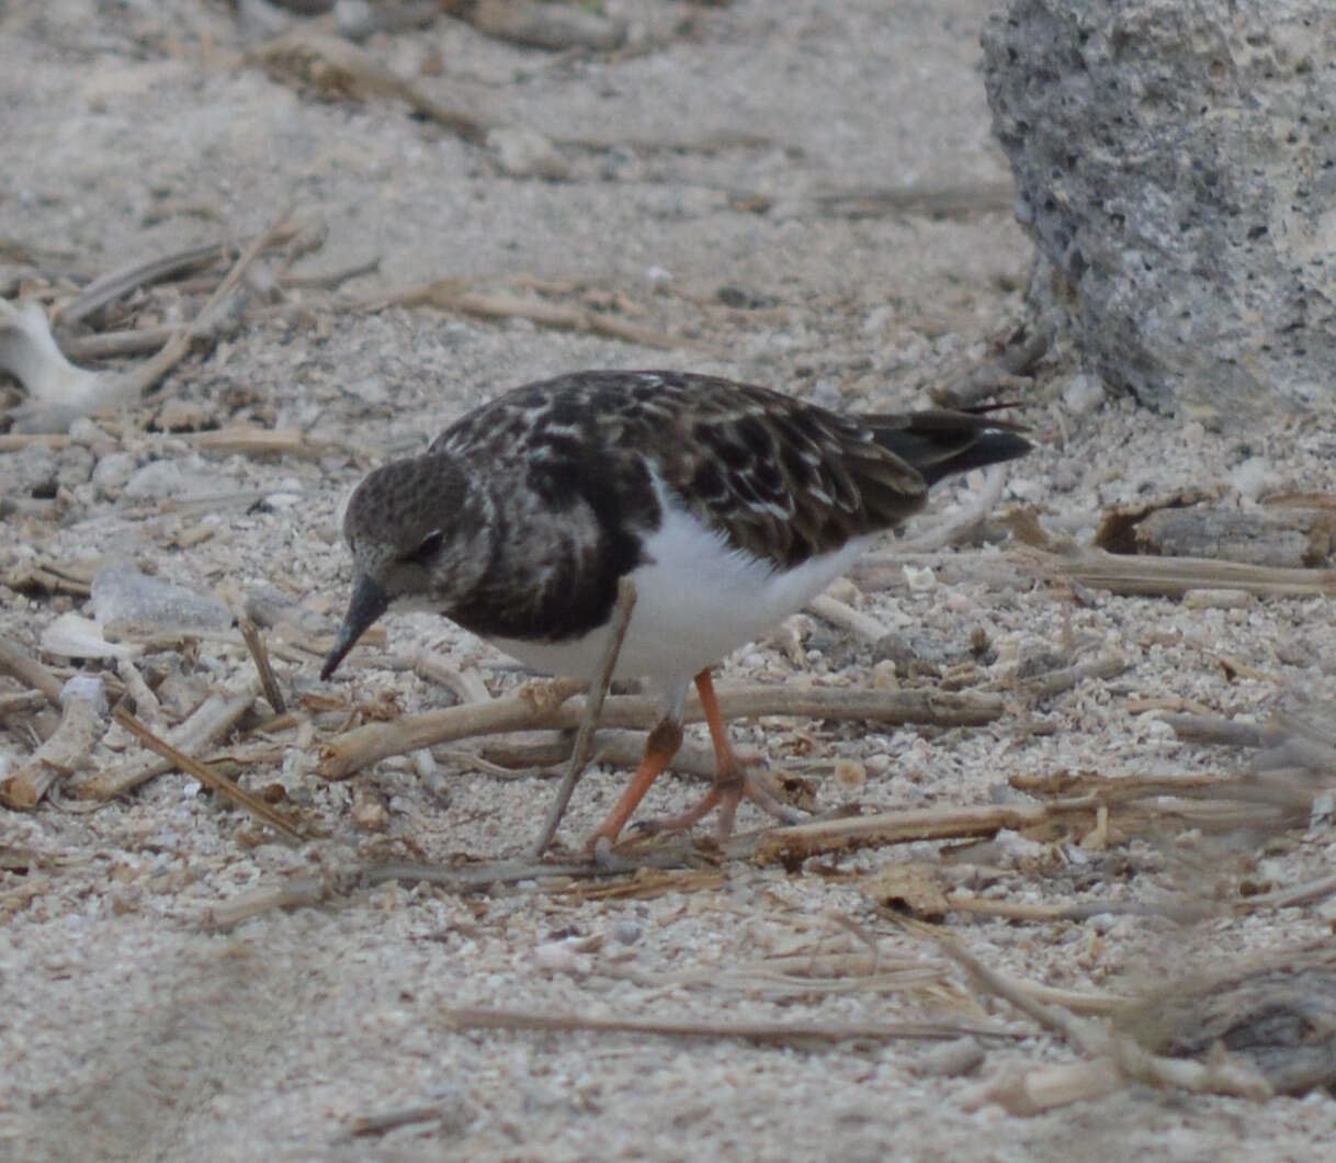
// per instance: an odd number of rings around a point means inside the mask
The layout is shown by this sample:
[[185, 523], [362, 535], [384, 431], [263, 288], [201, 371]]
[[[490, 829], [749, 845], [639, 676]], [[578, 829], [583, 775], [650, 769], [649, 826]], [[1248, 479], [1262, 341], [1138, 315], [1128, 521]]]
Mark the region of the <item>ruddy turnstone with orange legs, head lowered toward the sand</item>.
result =
[[424, 604], [548, 674], [592, 678], [617, 582], [636, 584], [615, 678], [649, 676], [663, 719], [612, 813], [617, 838], [681, 745], [695, 680], [715, 746], [704, 799], [776, 809], [728, 741], [709, 666], [820, 594], [950, 473], [1023, 456], [982, 412], [842, 416], [676, 372], [577, 372], [516, 388], [375, 469], [343, 519], [354, 584], [321, 678], [395, 606]]

